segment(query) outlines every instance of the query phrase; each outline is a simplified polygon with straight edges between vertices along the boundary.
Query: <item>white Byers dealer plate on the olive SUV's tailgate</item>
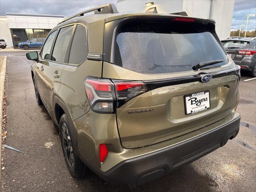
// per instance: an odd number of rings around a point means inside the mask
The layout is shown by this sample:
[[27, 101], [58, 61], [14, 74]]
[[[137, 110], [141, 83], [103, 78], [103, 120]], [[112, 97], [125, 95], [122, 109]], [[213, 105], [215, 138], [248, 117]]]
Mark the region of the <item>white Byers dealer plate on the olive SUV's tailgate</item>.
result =
[[197, 113], [211, 107], [210, 91], [202, 91], [184, 96], [186, 115]]

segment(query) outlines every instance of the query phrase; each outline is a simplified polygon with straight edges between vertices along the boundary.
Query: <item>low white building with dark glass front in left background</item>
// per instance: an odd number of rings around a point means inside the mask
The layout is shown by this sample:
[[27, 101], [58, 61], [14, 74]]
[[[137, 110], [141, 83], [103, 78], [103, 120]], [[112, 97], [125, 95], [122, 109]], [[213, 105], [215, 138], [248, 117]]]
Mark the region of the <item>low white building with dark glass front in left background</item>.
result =
[[0, 16], [0, 38], [7, 47], [18, 48], [18, 43], [31, 38], [46, 38], [64, 16], [6, 13]]

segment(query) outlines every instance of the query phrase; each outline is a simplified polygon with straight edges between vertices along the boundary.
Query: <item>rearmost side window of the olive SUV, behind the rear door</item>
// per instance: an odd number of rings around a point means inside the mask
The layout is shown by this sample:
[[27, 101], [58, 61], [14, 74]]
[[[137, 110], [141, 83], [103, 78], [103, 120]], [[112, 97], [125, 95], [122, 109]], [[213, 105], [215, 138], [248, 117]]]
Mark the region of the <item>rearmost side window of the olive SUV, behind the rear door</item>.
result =
[[88, 53], [88, 42], [86, 29], [82, 25], [78, 25], [76, 32], [74, 34], [69, 63], [71, 64], [81, 64], [87, 57]]

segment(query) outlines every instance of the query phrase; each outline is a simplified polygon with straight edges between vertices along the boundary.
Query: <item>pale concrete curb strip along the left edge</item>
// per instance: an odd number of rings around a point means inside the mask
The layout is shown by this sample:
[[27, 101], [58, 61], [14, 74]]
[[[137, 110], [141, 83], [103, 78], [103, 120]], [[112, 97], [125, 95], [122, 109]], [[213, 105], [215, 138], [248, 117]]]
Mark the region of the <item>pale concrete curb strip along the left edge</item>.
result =
[[[3, 115], [3, 104], [4, 104], [4, 81], [6, 72], [6, 60], [7, 56], [4, 56], [4, 61], [0, 71], [0, 163], [2, 163], [2, 115]], [[1, 165], [0, 164], [0, 181], [1, 181]]]

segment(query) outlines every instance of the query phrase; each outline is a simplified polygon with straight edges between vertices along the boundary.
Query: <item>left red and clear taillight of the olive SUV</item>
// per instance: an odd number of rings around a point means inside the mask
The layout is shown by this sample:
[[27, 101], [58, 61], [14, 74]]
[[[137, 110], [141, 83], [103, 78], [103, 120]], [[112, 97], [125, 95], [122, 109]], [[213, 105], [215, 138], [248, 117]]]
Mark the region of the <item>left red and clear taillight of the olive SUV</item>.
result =
[[104, 78], [86, 78], [84, 86], [92, 110], [99, 113], [114, 113], [115, 107], [149, 90], [142, 81]]

